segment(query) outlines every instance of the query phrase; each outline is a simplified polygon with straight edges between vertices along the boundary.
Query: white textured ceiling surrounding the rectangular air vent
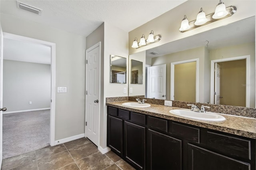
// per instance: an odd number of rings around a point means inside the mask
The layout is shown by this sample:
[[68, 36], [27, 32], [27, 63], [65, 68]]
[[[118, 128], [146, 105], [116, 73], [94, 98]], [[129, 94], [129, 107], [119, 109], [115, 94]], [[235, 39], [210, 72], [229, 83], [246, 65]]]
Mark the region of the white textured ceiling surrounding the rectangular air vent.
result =
[[20, 2], [42, 9], [42, 16], [38, 16], [18, 9], [16, 0], [0, 0], [0, 11], [67, 32], [88, 36], [103, 22], [130, 32], [185, 1], [20, 0]]

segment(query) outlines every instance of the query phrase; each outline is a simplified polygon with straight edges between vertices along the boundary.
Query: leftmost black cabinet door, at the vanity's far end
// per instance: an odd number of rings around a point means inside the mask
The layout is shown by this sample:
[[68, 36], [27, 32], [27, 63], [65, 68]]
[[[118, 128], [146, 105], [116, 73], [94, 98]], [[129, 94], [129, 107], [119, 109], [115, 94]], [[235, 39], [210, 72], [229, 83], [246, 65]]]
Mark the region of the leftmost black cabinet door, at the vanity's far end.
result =
[[123, 120], [108, 116], [107, 145], [119, 156], [123, 150]]

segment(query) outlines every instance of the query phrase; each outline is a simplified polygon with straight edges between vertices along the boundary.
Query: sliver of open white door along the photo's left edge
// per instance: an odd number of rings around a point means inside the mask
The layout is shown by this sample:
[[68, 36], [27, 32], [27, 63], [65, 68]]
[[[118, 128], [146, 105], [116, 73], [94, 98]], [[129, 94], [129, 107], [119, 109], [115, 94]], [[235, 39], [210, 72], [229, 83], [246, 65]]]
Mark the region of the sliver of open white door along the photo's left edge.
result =
[[[2, 32], [2, 27], [0, 25], [0, 108], [3, 107], [3, 41], [4, 36]], [[2, 166], [2, 144], [3, 144], [3, 112], [0, 111], [0, 166]]]

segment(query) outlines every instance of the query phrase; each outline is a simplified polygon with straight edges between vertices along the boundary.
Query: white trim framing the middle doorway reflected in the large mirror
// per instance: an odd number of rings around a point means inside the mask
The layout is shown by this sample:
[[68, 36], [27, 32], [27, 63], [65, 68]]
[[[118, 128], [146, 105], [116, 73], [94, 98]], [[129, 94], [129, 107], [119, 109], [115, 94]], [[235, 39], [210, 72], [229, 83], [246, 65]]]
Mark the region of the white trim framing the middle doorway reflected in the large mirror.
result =
[[177, 61], [171, 63], [171, 100], [174, 100], [174, 65], [176, 64], [182, 64], [182, 63], [191, 63], [196, 61], [196, 102], [198, 102], [199, 99], [199, 58], [195, 59], [188, 59], [184, 61]]

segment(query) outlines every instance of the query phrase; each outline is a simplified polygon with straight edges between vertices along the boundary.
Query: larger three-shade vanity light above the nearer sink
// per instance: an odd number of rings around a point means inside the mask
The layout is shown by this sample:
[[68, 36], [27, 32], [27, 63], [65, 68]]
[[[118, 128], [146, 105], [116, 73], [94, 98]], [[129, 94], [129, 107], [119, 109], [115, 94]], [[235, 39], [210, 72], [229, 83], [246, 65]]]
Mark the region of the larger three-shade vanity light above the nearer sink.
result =
[[218, 3], [215, 12], [208, 14], [207, 16], [204, 13], [203, 8], [199, 11], [196, 20], [188, 22], [188, 19], [186, 15], [184, 16], [181, 26], [180, 26], [180, 32], [186, 32], [189, 30], [192, 30], [194, 28], [204, 26], [206, 24], [210, 24], [217, 20], [222, 20], [224, 18], [232, 16], [236, 12], [235, 6], [228, 6], [226, 8], [225, 4], [220, 0]]

